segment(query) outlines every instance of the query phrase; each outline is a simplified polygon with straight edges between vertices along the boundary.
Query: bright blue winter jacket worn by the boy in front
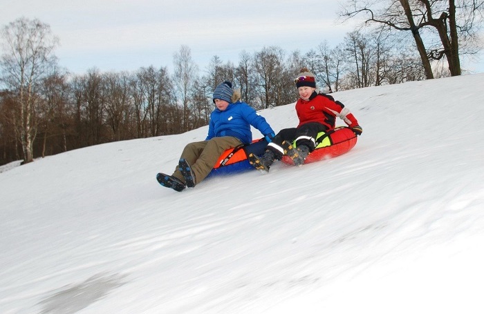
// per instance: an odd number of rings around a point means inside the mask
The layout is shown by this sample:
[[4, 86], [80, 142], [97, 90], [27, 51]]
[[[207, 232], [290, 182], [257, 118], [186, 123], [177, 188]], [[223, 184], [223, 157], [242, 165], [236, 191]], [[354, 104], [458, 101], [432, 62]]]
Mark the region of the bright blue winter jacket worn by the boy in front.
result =
[[264, 136], [274, 133], [266, 119], [258, 115], [245, 102], [229, 104], [223, 111], [215, 108], [210, 115], [208, 135], [205, 140], [212, 137], [233, 136], [240, 139], [243, 144], [250, 144], [252, 142], [250, 126], [257, 128]]

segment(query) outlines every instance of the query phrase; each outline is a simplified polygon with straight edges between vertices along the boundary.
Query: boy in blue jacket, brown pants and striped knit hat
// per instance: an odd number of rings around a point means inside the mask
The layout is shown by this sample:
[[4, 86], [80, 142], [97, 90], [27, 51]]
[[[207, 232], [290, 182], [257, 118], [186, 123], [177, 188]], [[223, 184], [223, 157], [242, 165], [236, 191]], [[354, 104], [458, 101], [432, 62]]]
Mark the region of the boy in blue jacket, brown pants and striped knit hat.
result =
[[207, 138], [185, 146], [173, 175], [158, 173], [156, 179], [162, 186], [181, 192], [186, 186], [193, 188], [199, 184], [225, 150], [252, 142], [250, 126], [257, 128], [268, 141], [274, 137], [274, 130], [266, 119], [240, 99], [240, 91], [232, 90], [230, 81], [216, 86], [213, 95], [216, 108], [210, 115]]

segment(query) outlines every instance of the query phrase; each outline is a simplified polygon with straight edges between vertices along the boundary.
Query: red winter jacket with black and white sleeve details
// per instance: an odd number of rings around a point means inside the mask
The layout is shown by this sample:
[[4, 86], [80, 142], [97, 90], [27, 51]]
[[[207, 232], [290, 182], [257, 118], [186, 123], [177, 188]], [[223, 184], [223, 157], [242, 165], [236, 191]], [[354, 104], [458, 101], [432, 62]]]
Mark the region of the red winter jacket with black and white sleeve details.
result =
[[[340, 101], [334, 101], [333, 97], [326, 94], [313, 95], [309, 100], [299, 98], [296, 103], [297, 117], [299, 117], [299, 126], [308, 122], [319, 122], [333, 130], [335, 128], [336, 117], [342, 119], [350, 128], [358, 125], [358, 121], [344, 104]], [[299, 128], [299, 126], [297, 126]]]

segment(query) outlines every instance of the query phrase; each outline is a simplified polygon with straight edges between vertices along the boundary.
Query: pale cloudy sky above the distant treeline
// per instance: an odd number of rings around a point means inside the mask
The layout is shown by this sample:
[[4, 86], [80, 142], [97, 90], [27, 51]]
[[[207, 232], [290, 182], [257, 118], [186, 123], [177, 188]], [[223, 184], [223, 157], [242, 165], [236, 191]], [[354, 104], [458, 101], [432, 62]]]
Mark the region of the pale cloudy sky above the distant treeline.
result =
[[[356, 21], [337, 19], [339, 0], [0, 0], [0, 25], [19, 17], [40, 19], [59, 37], [59, 65], [77, 74], [141, 67], [172, 68], [173, 55], [189, 46], [203, 72], [217, 55], [279, 46], [308, 52], [327, 41], [342, 43]], [[484, 72], [484, 58], [467, 68]]]

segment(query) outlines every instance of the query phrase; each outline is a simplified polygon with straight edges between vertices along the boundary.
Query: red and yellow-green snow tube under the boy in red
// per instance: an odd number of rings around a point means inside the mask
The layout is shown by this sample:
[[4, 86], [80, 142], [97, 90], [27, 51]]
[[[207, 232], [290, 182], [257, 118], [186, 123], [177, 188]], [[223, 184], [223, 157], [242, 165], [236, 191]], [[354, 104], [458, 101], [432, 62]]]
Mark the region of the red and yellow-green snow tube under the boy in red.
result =
[[[318, 143], [316, 149], [308, 155], [306, 160], [304, 160], [304, 164], [347, 153], [351, 148], [355, 147], [356, 141], [357, 136], [351, 128], [346, 126], [339, 126], [326, 133], [321, 132], [316, 139]], [[294, 164], [292, 159], [286, 155], [282, 157], [282, 161], [285, 164]]]

